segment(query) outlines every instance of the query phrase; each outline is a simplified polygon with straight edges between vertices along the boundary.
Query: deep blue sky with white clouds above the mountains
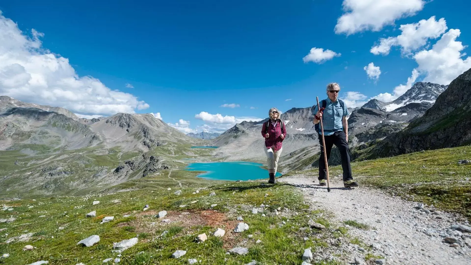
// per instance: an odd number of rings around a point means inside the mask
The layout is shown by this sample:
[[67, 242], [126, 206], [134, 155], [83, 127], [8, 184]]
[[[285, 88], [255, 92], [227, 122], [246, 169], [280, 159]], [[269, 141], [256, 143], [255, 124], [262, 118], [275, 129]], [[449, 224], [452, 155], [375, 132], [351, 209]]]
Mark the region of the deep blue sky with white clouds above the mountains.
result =
[[[468, 56], [460, 57], [471, 44], [465, 6], [460, 0], [4, 1], [1, 22], [16, 25], [0, 26], [0, 56], [10, 56], [0, 63], [8, 73], [0, 74], [0, 94], [84, 117], [160, 113], [185, 132], [223, 131], [263, 119], [273, 106], [312, 106], [329, 82], [341, 85], [349, 106], [372, 97], [388, 101], [414, 81], [448, 84], [471, 67]], [[396, 39], [406, 24], [409, 33]], [[11, 38], [18, 32], [30, 37], [27, 45]], [[308, 56], [311, 48], [317, 53]], [[44, 63], [25, 56], [55, 66], [42, 69]]]

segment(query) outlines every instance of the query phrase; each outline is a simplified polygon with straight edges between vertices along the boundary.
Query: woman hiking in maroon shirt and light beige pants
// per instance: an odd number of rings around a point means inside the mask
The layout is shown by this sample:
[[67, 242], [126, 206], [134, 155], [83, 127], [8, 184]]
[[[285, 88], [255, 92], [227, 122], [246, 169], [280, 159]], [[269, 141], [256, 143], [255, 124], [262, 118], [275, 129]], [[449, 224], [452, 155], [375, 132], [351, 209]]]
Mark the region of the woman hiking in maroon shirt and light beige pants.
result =
[[261, 134], [265, 137], [265, 154], [267, 154], [268, 173], [270, 179], [268, 183], [275, 184], [276, 168], [278, 167], [278, 159], [283, 150], [283, 140], [286, 138], [286, 128], [280, 120], [280, 112], [276, 108], [268, 111], [270, 119], [263, 123]]

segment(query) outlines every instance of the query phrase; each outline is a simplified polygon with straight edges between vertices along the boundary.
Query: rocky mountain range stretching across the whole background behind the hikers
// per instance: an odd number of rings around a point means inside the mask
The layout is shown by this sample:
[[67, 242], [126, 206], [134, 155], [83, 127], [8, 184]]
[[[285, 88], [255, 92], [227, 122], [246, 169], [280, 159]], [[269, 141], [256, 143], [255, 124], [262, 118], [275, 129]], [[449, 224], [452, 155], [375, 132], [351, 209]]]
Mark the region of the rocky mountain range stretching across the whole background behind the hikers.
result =
[[[470, 80], [468, 70], [449, 86], [417, 82], [395, 101], [371, 100], [350, 109], [352, 157], [368, 159], [471, 143]], [[316, 164], [319, 144], [313, 109], [292, 108], [281, 115], [287, 130], [282, 173]], [[176, 160], [195, 156], [196, 151], [190, 150], [194, 145], [219, 146], [207, 152], [222, 161], [263, 162], [260, 130], [266, 120], [243, 121], [221, 135], [185, 135], [152, 114], [83, 119], [65, 108], [0, 96], [0, 193], [106, 189], [178, 167]], [[331, 164], [335, 163], [333, 150]]]

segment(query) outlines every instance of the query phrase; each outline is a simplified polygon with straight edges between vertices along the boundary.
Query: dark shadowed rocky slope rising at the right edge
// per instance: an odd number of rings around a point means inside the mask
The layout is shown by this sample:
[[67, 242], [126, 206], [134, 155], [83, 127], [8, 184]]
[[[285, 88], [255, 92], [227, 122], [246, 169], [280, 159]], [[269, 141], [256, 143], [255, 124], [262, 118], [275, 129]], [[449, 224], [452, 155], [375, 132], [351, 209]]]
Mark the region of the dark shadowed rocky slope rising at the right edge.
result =
[[471, 144], [470, 117], [471, 69], [453, 80], [422, 117], [386, 137], [370, 157]]

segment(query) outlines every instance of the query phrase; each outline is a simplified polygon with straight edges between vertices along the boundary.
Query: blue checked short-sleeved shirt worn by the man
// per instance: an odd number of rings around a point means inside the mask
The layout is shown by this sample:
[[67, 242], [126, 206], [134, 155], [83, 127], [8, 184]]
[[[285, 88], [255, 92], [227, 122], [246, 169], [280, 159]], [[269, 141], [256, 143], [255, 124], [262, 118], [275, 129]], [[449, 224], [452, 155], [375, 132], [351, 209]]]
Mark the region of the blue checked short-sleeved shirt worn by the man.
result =
[[[345, 105], [345, 102], [342, 101], [341, 99], [337, 99], [337, 101], [332, 102], [330, 98], [325, 99], [326, 104], [325, 104], [325, 110], [323, 112], [322, 116], [322, 124], [324, 126], [324, 135], [333, 135], [334, 132], [336, 131], [341, 131], [343, 130], [343, 125], [342, 125], [342, 117], [347, 116], [350, 114], [347, 106]], [[319, 101], [320, 106], [322, 107], [322, 101]], [[343, 105], [343, 108], [342, 108]], [[316, 115], [317, 111], [319, 108], [316, 107], [314, 108], [313, 115]], [[321, 134], [321, 125], [319, 122], [319, 134]]]

